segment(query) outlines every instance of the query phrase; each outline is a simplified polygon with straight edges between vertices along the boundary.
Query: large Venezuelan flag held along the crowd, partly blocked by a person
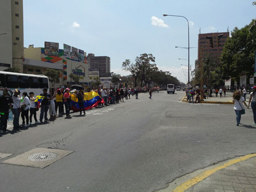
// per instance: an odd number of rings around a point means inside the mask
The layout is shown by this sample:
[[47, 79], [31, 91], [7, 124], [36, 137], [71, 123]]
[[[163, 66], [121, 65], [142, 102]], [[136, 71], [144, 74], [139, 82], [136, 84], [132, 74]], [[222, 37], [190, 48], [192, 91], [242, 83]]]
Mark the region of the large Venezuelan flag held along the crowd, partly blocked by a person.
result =
[[[85, 110], [89, 110], [91, 108], [95, 108], [100, 102], [101, 97], [98, 93], [92, 91], [90, 93], [83, 93], [83, 106]], [[79, 111], [79, 104], [78, 99], [75, 94], [71, 94], [71, 110], [72, 111]]]

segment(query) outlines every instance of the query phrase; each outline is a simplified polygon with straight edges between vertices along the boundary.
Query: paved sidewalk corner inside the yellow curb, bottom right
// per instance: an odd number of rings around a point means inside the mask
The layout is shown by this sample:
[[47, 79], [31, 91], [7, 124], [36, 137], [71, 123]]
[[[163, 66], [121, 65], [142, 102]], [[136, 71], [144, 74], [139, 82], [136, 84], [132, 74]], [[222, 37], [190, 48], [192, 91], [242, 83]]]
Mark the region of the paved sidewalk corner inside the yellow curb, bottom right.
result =
[[220, 169], [187, 192], [255, 192], [256, 191], [256, 157], [234, 163]]

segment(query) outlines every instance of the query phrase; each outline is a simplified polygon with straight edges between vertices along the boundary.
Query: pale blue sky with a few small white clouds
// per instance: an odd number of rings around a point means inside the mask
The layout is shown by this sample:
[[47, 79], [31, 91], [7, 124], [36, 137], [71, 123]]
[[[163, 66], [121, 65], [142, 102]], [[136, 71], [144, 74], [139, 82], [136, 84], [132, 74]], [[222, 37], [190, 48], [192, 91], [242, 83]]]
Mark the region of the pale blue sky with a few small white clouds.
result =
[[[111, 58], [111, 72], [122, 62], [152, 53], [159, 70], [186, 82], [187, 22], [190, 64], [195, 68], [198, 34], [232, 31], [256, 18], [251, 0], [24, 0], [24, 47], [44, 47], [45, 41], [63, 44]], [[186, 69], [186, 70], [183, 70]], [[185, 72], [183, 72], [185, 71]]]

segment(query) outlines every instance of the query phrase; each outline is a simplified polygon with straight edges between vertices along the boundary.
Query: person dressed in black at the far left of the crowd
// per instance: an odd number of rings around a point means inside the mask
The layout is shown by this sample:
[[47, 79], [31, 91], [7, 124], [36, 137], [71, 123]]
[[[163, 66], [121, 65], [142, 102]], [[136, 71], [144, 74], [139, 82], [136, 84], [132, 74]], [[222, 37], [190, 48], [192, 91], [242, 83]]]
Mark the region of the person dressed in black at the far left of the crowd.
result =
[[3, 95], [0, 95], [0, 133], [7, 131], [7, 120], [12, 109], [11, 97], [7, 95], [7, 92], [8, 90], [4, 89]]

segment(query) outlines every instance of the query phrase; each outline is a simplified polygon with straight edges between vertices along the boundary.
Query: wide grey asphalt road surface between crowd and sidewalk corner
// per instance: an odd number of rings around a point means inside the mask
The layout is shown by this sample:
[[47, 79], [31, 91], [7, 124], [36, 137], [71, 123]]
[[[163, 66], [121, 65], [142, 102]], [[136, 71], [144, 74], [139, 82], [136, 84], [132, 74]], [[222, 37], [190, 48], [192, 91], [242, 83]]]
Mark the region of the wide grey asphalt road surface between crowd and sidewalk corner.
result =
[[196, 169], [256, 153], [251, 109], [238, 127], [232, 105], [188, 104], [179, 101], [183, 94], [160, 92], [151, 100], [140, 94], [85, 117], [0, 136], [0, 152], [13, 154], [8, 158], [36, 147], [74, 151], [44, 169], [0, 163], [0, 191], [154, 191]]

